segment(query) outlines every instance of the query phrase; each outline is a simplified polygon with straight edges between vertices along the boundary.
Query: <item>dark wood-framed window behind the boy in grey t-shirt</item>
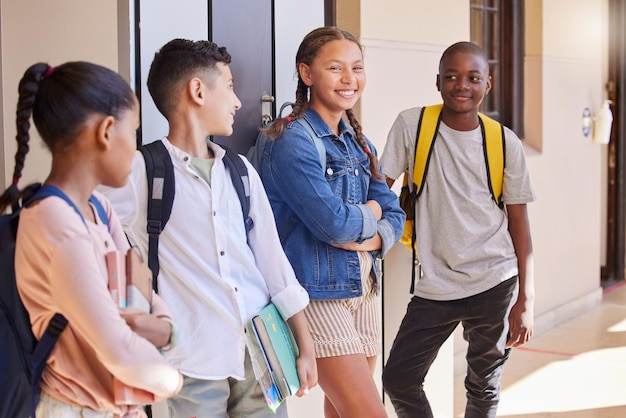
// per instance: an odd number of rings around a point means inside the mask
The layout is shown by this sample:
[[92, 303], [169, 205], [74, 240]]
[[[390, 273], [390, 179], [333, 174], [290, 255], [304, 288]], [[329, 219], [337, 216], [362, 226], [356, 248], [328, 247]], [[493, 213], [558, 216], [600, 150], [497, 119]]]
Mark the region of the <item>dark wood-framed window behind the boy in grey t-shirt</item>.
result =
[[524, 0], [471, 0], [470, 40], [489, 59], [492, 89], [481, 112], [524, 134]]

